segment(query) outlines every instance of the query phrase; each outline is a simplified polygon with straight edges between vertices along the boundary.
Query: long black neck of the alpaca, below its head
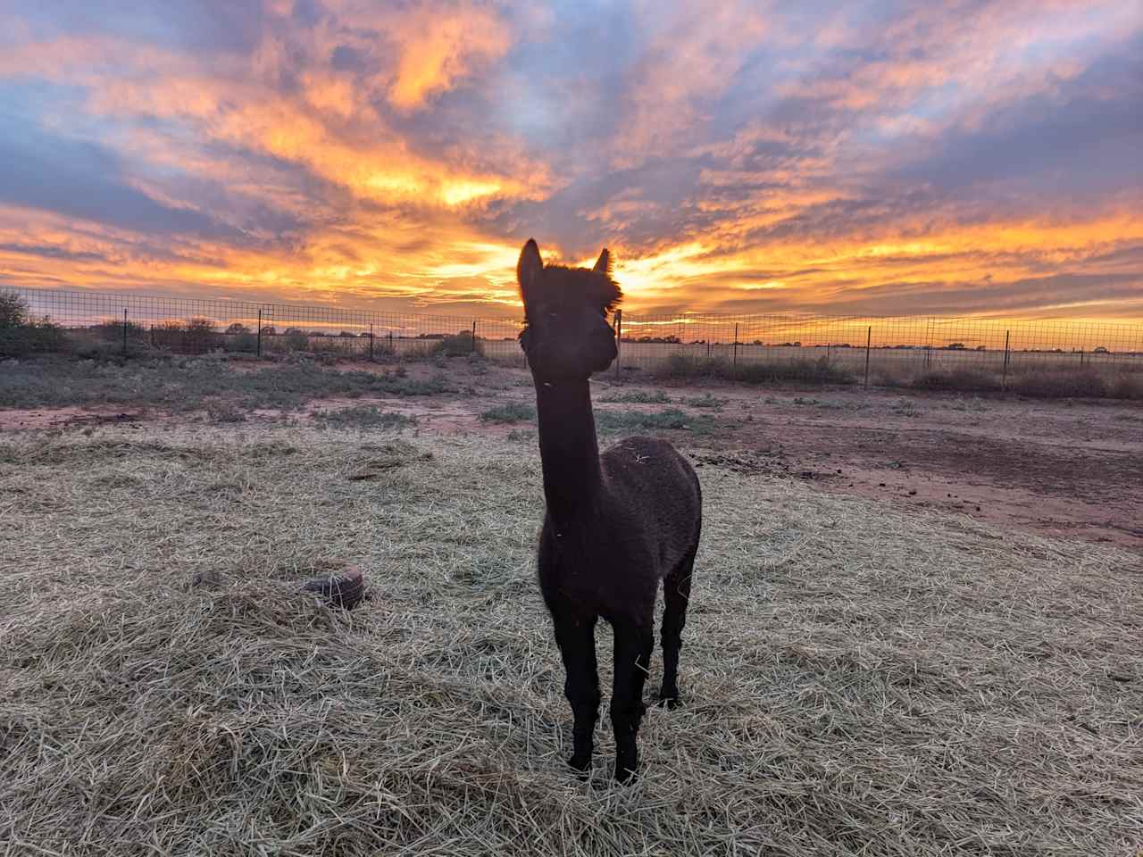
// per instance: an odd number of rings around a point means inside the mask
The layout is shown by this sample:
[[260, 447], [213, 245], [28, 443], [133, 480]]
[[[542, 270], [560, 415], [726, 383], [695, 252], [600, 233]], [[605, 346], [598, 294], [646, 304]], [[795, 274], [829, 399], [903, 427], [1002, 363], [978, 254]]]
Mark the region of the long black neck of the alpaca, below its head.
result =
[[557, 521], [568, 520], [591, 504], [601, 481], [588, 381], [537, 379], [536, 410], [547, 511]]

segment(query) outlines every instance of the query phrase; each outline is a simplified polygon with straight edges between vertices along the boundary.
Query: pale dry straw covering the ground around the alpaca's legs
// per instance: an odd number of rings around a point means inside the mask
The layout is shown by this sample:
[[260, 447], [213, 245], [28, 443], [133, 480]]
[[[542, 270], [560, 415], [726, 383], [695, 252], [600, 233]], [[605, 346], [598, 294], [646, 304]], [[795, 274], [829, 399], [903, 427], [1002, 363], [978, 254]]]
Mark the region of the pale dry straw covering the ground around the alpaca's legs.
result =
[[[6, 435], [0, 852], [1134, 857], [1138, 554], [764, 465], [700, 470], [686, 707], [616, 787], [606, 692], [563, 766], [531, 443]], [[298, 594], [343, 563], [357, 610]]]

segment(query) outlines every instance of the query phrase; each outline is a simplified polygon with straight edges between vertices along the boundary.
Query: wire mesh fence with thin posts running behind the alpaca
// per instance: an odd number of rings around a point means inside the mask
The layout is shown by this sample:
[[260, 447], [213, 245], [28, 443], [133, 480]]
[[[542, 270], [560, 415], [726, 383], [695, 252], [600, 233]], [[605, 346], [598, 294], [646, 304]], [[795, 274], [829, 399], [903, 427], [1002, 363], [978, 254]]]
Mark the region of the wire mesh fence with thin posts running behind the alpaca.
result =
[[[23, 318], [5, 315], [0, 301], [0, 353], [66, 344], [78, 352], [224, 350], [362, 359], [479, 353], [523, 362], [518, 319], [17, 287], [0, 288], [3, 295], [22, 307]], [[617, 371], [654, 370], [672, 361], [732, 369], [813, 363], [858, 379], [895, 371], [1143, 368], [1143, 321], [617, 312], [615, 322]]]

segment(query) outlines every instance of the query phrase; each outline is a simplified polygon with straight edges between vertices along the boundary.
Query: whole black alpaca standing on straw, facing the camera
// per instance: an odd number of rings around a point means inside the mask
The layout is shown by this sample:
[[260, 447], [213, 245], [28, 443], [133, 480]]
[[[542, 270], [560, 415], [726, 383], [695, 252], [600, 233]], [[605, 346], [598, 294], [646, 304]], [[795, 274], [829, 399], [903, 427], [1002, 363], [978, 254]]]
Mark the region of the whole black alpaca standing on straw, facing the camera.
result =
[[575, 716], [575, 752], [591, 766], [599, 716], [596, 622], [615, 631], [615, 778], [638, 766], [644, 681], [654, 646], [654, 609], [664, 582], [663, 687], [679, 699], [678, 666], [702, 528], [698, 478], [674, 448], [655, 438], [628, 438], [599, 455], [588, 379], [616, 355], [607, 312], [621, 293], [605, 249], [589, 271], [544, 266], [528, 240], [517, 265], [526, 326], [520, 344], [536, 386], [539, 454], [547, 510], [539, 534], [539, 587], [563, 657], [565, 694]]

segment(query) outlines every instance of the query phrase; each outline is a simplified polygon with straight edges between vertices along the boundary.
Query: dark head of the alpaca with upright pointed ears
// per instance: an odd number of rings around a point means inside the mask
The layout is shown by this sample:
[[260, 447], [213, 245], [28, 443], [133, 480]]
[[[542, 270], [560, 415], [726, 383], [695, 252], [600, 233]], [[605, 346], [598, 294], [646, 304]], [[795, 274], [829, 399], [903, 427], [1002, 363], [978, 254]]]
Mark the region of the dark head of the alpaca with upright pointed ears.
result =
[[607, 313], [623, 295], [612, 279], [606, 249], [591, 270], [545, 266], [529, 238], [520, 251], [515, 278], [525, 313], [520, 347], [537, 381], [584, 379], [612, 365], [617, 351]]

